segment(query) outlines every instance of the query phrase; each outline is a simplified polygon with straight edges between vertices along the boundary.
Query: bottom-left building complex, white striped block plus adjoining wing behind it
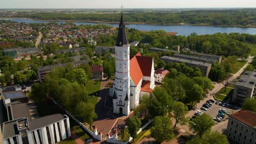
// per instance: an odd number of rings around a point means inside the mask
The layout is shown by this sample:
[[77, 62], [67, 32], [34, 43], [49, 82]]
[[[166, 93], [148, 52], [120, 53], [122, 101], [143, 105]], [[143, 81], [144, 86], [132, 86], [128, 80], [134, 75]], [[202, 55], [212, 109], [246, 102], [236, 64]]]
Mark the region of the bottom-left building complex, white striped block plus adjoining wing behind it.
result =
[[71, 136], [69, 118], [55, 114], [31, 117], [28, 98], [22, 91], [2, 92], [8, 121], [3, 123], [3, 144], [57, 143]]

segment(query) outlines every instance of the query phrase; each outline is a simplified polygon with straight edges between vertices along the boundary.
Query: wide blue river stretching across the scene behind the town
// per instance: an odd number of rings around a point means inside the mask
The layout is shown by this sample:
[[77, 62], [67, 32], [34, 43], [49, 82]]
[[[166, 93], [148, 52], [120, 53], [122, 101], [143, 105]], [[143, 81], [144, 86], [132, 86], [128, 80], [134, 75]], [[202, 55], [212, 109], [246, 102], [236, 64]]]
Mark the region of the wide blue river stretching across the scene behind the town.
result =
[[[48, 23], [49, 21], [30, 20], [30, 19], [0, 19], [0, 20], [11, 20], [15, 22], [26, 22], [26, 23]], [[65, 21], [56, 21], [57, 23], [65, 23]], [[78, 22], [73, 21], [75, 25], [98, 25], [104, 24], [112, 27], [118, 27], [116, 23], [95, 23], [95, 22]], [[217, 26], [192, 26], [192, 25], [149, 25], [149, 24], [126, 24], [129, 28], [136, 28], [141, 31], [152, 31], [152, 30], [164, 30], [166, 32], [177, 32], [177, 35], [189, 35], [196, 32], [198, 35], [202, 34], [213, 34], [213, 33], [248, 33], [256, 34], [256, 28], [249, 27], [217, 27]]]

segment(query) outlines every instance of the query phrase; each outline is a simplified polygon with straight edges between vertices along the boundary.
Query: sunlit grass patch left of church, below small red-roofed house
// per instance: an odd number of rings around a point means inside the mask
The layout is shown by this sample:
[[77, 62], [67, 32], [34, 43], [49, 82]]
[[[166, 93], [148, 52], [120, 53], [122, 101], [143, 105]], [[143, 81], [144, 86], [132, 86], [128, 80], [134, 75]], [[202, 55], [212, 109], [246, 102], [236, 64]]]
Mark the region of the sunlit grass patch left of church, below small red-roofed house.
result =
[[86, 91], [89, 95], [98, 95], [98, 91], [101, 89], [100, 80], [89, 80], [85, 85]]

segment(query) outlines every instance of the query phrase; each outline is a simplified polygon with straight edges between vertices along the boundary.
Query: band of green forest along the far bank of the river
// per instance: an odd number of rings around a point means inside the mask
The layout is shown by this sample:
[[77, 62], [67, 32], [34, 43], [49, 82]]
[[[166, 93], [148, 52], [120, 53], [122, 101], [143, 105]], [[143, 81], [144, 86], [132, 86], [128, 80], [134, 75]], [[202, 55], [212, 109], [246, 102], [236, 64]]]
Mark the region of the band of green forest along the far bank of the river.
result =
[[[30, 17], [38, 20], [86, 20], [118, 22], [119, 13], [60, 13], [39, 12], [28, 14], [19, 12], [18, 17]], [[226, 25], [254, 26], [256, 9], [229, 10], [184, 10], [184, 11], [134, 11], [124, 14], [126, 22], [143, 22], [156, 24], [194, 24], [194, 25]]]

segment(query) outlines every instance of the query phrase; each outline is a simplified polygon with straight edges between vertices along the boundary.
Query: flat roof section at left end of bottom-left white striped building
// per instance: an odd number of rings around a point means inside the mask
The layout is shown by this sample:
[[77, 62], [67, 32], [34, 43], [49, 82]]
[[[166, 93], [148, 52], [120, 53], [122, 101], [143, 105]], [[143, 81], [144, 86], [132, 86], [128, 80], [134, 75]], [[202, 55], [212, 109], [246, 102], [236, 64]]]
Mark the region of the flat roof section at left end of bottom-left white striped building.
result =
[[[20, 119], [23, 119], [23, 118], [20, 118]], [[8, 137], [19, 135], [16, 121], [20, 119], [15, 119], [13, 121], [3, 123], [3, 139], [7, 139]]]

